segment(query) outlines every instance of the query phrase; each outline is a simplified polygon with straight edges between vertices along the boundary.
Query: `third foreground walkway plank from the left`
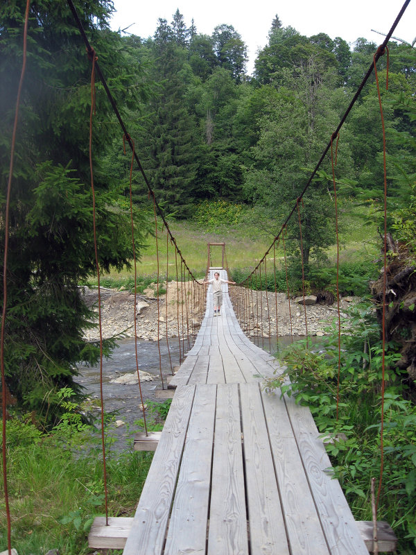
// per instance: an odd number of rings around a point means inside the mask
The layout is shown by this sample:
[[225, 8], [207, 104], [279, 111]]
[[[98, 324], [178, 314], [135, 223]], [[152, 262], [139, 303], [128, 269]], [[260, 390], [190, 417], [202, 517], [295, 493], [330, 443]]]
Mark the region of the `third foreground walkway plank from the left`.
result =
[[248, 554], [237, 385], [217, 388], [208, 555]]

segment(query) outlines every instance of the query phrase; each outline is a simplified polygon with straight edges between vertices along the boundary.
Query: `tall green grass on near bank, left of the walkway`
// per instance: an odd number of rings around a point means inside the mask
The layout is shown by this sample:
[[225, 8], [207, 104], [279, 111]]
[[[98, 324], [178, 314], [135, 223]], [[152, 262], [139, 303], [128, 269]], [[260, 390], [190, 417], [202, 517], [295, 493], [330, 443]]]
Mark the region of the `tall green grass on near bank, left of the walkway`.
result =
[[[94, 516], [105, 513], [103, 463], [92, 429], [49, 434], [8, 421], [8, 491], [12, 547], [19, 555], [87, 555]], [[109, 515], [132, 515], [152, 454], [107, 452]], [[7, 549], [6, 509], [0, 488], [0, 552]], [[110, 553], [110, 552], [109, 552]], [[112, 551], [111, 553], [121, 553]]]

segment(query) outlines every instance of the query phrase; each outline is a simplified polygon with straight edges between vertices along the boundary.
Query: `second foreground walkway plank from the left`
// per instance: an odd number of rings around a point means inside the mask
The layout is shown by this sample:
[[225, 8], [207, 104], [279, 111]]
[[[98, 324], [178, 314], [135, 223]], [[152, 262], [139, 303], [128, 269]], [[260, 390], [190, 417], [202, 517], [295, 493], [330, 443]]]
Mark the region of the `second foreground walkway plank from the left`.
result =
[[216, 386], [196, 388], [164, 554], [205, 553]]

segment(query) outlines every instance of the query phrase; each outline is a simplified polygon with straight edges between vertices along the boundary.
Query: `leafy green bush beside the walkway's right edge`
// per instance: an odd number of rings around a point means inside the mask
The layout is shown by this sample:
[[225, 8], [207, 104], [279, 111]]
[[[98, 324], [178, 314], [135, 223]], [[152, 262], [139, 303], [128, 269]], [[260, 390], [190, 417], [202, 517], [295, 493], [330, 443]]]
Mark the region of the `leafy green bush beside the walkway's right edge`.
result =
[[[268, 387], [294, 395], [311, 409], [318, 429], [335, 439], [326, 445], [356, 520], [371, 520], [370, 479], [381, 466], [380, 328], [370, 303], [351, 310], [343, 323], [338, 420], [338, 329], [314, 343], [298, 341], [280, 356], [287, 366]], [[416, 546], [416, 407], [407, 400], [405, 376], [396, 363], [397, 345], [385, 350], [384, 472], [378, 520], [387, 520], [399, 538], [399, 553]], [[286, 379], [286, 383], [284, 380]], [[288, 383], [290, 382], [290, 383]]]

